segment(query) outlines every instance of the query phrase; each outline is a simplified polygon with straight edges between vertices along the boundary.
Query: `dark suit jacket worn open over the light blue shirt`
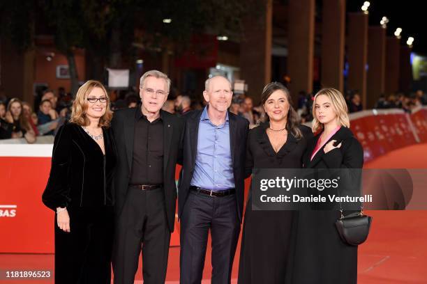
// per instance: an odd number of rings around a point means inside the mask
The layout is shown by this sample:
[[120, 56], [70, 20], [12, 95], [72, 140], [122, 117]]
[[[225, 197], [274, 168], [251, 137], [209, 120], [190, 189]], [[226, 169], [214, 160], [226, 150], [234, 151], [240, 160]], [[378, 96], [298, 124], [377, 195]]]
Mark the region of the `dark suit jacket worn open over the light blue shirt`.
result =
[[[193, 178], [195, 159], [197, 154], [197, 135], [199, 132], [200, 116], [202, 110], [191, 111], [183, 116], [185, 120], [185, 129], [181, 147], [183, 151], [183, 160], [181, 173], [178, 183], [178, 216], [181, 217], [183, 207], [186, 204], [190, 182]], [[241, 221], [244, 207], [245, 191], [245, 156], [246, 156], [246, 137], [248, 136], [248, 120], [228, 112], [230, 123], [230, 143], [233, 162], [234, 185], [236, 187], [237, 212]]]

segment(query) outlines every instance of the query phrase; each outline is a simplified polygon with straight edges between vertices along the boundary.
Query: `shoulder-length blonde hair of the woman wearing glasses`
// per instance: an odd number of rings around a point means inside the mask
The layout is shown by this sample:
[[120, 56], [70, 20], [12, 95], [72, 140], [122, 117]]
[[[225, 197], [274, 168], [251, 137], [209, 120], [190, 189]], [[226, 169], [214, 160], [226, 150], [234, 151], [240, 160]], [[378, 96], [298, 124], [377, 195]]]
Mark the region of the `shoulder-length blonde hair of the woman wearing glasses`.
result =
[[91, 93], [93, 88], [101, 88], [105, 97], [107, 97], [107, 109], [103, 116], [100, 117], [98, 126], [99, 127], [109, 127], [110, 121], [112, 119], [112, 111], [110, 110], [110, 97], [108, 97], [107, 90], [100, 81], [89, 80], [84, 83], [79, 90], [77, 90], [77, 95], [75, 95], [75, 100], [73, 102], [73, 107], [71, 107], [71, 118], [70, 123], [75, 123], [80, 126], [87, 126], [90, 124], [89, 118], [86, 116], [87, 111], [87, 95]]

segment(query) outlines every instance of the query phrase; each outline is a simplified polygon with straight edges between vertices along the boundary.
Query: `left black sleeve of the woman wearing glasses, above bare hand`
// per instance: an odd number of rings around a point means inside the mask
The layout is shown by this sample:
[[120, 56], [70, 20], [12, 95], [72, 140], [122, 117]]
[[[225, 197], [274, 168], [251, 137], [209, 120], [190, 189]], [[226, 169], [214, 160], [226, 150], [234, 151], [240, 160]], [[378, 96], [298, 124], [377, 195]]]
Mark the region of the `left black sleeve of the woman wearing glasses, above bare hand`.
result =
[[67, 207], [71, 201], [68, 169], [72, 139], [69, 132], [69, 125], [62, 125], [54, 140], [49, 180], [42, 196], [43, 203], [52, 210]]

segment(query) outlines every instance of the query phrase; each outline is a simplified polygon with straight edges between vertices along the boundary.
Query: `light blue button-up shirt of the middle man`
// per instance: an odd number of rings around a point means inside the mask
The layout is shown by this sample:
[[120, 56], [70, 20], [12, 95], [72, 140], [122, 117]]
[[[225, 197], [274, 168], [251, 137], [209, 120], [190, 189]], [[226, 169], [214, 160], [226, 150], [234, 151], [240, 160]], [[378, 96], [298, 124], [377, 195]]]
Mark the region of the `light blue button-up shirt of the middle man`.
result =
[[200, 116], [191, 185], [214, 191], [234, 189], [232, 164], [228, 112], [225, 123], [216, 126], [211, 123], [205, 107]]

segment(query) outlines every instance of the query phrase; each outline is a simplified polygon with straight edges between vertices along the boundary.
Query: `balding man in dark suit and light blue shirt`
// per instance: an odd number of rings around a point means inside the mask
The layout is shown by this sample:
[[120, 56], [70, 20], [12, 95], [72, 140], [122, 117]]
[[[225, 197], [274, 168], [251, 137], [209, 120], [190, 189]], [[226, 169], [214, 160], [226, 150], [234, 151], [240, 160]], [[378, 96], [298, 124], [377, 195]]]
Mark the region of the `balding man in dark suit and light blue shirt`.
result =
[[212, 237], [212, 281], [230, 283], [244, 206], [244, 163], [248, 120], [228, 111], [230, 81], [207, 79], [202, 111], [186, 116], [179, 179], [181, 284], [200, 283]]

